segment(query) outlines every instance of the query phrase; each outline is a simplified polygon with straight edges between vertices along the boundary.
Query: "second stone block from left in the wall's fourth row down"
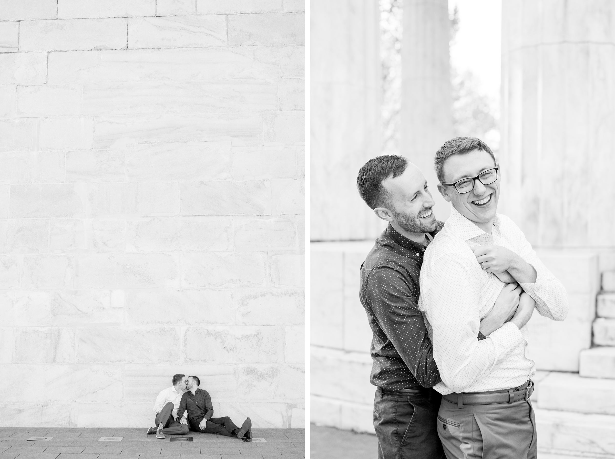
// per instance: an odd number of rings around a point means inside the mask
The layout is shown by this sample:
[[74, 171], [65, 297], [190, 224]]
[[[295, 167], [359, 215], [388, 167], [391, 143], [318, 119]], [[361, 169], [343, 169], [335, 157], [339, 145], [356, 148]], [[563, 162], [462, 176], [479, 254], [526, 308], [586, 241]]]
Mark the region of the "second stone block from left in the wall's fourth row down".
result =
[[82, 88], [75, 85], [18, 86], [17, 116], [63, 116], [81, 114]]

